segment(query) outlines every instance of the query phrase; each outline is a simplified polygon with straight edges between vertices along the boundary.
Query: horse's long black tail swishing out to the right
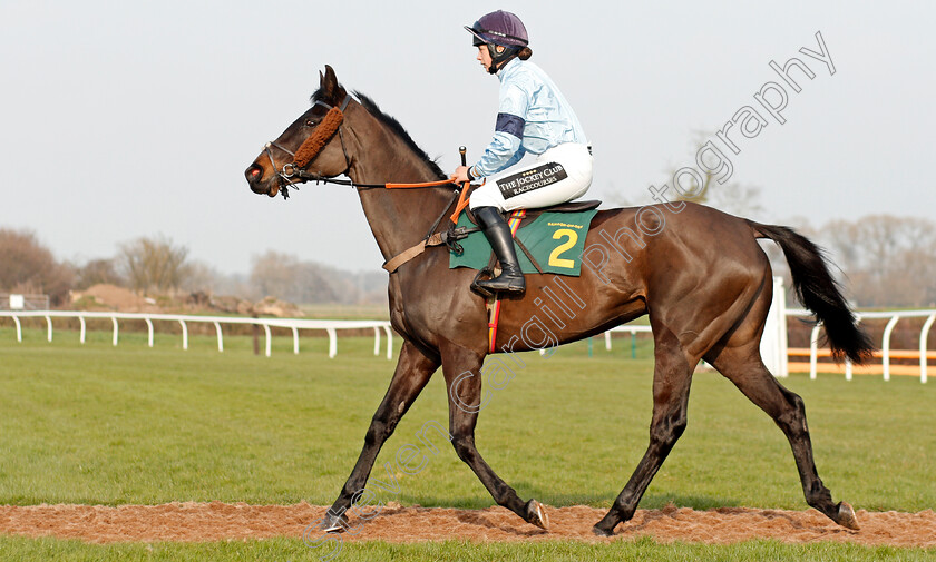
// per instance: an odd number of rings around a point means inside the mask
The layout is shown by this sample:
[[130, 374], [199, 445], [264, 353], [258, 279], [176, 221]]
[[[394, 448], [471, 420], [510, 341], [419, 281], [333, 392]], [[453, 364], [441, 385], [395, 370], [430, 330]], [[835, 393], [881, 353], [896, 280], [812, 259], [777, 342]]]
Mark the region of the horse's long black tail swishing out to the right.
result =
[[875, 346], [845, 302], [841, 290], [829, 273], [823, 252], [805, 236], [786, 226], [748, 224], [758, 238], [770, 238], [780, 245], [793, 278], [793, 290], [800, 302], [816, 314], [826, 327], [832, 357], [848, 357], [861, 364], [871, 357]]

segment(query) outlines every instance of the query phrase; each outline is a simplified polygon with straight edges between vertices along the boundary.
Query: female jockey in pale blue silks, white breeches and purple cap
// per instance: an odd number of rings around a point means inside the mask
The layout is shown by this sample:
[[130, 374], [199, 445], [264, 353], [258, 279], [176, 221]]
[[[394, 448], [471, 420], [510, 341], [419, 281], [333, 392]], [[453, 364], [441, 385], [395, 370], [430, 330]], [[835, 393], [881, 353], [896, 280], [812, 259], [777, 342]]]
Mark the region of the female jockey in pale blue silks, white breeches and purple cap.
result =
[[[548, 207], [581, 197], [592, 185], [592, 150], [582, 125], [553, 80], [528, 62], [533, 51], [520, 19], [505, 11], [472, 27], [478, 61], [500, 80], [494, 139], [474, 166], [459, 166], [456, 183], [487, 178], [469, 207], [500, 262], [498, 277], [478, 282], [481, 292], [526, 290], [510, 228], [501, 211]], [[518, 165], [527, 154], [532, 161]]]

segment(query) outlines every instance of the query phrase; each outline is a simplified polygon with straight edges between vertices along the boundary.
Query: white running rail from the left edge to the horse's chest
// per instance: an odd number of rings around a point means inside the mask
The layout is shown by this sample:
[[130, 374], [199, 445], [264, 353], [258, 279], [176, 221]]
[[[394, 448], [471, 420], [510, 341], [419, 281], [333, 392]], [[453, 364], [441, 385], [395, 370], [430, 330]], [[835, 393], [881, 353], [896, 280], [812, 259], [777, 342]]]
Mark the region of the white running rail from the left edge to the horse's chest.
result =
[[0, 317], [10, 317], [17, 326], [17, 341], [22, 342], [22, 325], [20, 318], [45, 318], [47, 339], [52, 341], [52, 318], [78, 318], [81, 323], [80, 341], [85, 343], [88, 319], [110, 319], [113, 328], [113, 344], [119, 341], [120, 327], [117, 321], [144, 321], [149, 332], [149, 347], [153, 347], [155, 329], [154, 321], [177, 322], [182, 326], [182, 348], [188, 349], [188, 324], [213, 324], [217, 334], [217, 351], [224, 351], [224, 334], [222, 324], [251, 324], [261, 326], [266, 336], [266, 356], [272, 353], [271, 327], [290, 328], [293, 335], [293, 353], [299, 354], [300, 329], [324, 329], [329, 335], [329, 357], [338, 354], [339, 329], [373, 329], [373, 354], [380, 354], [380, 333], [387, 335], [387, 358], [393, 357], [393, 333], [390, 323], [386, 321], [306, 321], [301, 318], [245, 318], [236, 316], [183, 316], [175, 314], [130, 314], [130, 313], [90, 313], [90, 312], [2, 312]]

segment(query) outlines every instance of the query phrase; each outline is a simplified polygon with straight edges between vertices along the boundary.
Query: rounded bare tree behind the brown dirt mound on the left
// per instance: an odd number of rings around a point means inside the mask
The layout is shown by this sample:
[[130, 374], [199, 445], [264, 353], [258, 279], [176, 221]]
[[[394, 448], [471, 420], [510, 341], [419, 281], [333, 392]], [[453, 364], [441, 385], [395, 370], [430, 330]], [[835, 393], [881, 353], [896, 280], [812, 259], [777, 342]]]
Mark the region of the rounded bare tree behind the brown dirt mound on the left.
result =
[[188, 248], [165, 236], [121, 244], [117, 266], [130, 288], [139, 293], [175, 293], [188, 276]]

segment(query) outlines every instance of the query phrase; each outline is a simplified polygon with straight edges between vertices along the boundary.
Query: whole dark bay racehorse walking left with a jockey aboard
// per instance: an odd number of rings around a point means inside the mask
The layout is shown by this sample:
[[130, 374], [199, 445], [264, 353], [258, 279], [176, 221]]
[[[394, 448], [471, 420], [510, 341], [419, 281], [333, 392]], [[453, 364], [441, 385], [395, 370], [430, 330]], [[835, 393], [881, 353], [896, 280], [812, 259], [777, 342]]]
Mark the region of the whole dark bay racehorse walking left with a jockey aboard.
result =
[[[358, 99], [349, 96], [331, 67], [320, 78], [312, 108], [266, 146], [247, 168], [247, 181], [253, 191], [272, 197], [296, 178], [351, 178], [359, 185], [373, 237], [389, 260], [418, 244], [447, 209], [450, 213], [452, 186], [361, 187], [446, 176], [396, 120], [360, 93]], [[311, 149], [306, 140], [312, 141]], [[782, 248], [793, 287], [825, 324], [836, 356], [856, 363], [866, 359], [870, 341], [856, 326], [816, 246], [789, 228], [691, 203], [599, 211], [586, 237], [588, 267], [579, 277], [530, 275], [526, 294], [505, 300], [498, 353], [574, 342], [644, 314], [650, 317], [655, 359], [650, 444], [608, 513], [594, 526], [595, 533], [611, 535], [634, 515], [685, 430], [690, 384], [700, 359], [734, 383], [787, 436], [807, 503], [836, 523], [857, 529], [851, 506], [835, 503], [816, 471], [802, 400], [781, 386], [761, 361], [759, 344], [773, 283], [758, 238], [772, 239]], [[485, 299], [469, 290], [475, 272], [449, 269], [443, 248], [426, 249], [390, 275], [390, 319], [404, 343], [324, 530], [348, 525], [345, 511], [364, 489], [381, 446], [439, 366], [449, 388], [449, 432], [459, 459], [499, 505], [534, 525], [548, 526], [543, 506], [536, 500], [523, 501], [475, 445], [481, 366], [489, 353], [488, 315]]]

